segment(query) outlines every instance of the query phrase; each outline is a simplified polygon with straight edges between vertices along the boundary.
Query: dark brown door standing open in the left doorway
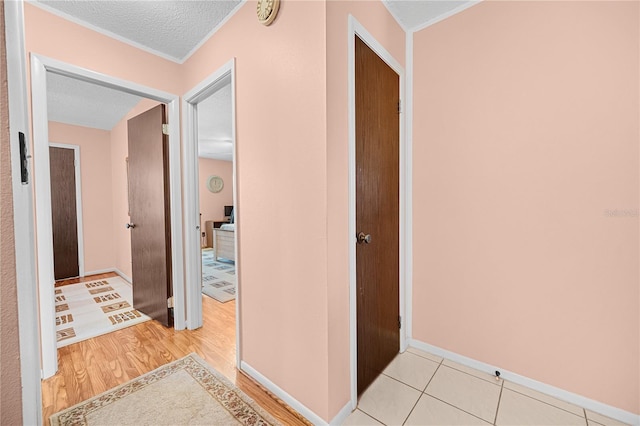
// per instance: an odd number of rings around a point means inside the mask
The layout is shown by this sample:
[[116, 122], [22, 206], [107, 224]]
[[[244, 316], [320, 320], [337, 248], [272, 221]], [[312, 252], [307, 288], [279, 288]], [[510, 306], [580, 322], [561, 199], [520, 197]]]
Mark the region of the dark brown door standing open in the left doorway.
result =
[[133, 306], [172, 325], [168, 141], [164, 105], [127, 122]]

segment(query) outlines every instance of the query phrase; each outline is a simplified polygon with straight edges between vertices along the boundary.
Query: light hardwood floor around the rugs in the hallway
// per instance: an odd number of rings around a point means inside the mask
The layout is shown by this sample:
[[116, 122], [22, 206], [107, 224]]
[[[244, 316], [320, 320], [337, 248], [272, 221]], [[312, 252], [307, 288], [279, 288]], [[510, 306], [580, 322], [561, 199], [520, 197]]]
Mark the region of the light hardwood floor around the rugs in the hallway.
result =
[[[66, 280], [56, 287], [116, 276]], [[58, 373], [42, 381], [43, 422], [65, 408], [105, 392], [161, 365], [197, 353], [285, 425], [306, 420], [236, 369], [235, 300], [203, 296], [204, 326], [175, 331], [156, 321], [128, 327], [58, 349]]]

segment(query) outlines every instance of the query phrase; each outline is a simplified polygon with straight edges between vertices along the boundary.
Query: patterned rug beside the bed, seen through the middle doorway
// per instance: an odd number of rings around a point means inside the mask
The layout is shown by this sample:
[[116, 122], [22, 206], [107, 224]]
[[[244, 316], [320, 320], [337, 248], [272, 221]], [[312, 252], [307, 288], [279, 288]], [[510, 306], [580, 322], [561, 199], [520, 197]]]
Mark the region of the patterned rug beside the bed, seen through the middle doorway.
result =
[[235, 262], [214, 260], [213, 249], [202, 250], [202, 293], [223, 303], [236, 298]]

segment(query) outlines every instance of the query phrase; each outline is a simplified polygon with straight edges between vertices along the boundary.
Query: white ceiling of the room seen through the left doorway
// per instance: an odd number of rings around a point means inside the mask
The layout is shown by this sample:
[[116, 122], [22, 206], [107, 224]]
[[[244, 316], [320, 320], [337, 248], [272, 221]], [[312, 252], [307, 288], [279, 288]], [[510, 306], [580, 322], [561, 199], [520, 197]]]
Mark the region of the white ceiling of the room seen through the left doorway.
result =
[[47, 73], [50, 121], [111, 130], [141, 100], [139, 96]]

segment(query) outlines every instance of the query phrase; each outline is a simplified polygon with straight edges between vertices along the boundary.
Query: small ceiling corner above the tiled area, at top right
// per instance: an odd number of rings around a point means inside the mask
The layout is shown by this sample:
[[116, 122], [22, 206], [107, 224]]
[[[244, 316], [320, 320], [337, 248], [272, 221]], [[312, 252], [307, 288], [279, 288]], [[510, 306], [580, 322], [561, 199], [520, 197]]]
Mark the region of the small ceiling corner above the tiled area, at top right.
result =
[[415, 31], [477, 4], [480, 0], [382, 0], [407, 30]]

